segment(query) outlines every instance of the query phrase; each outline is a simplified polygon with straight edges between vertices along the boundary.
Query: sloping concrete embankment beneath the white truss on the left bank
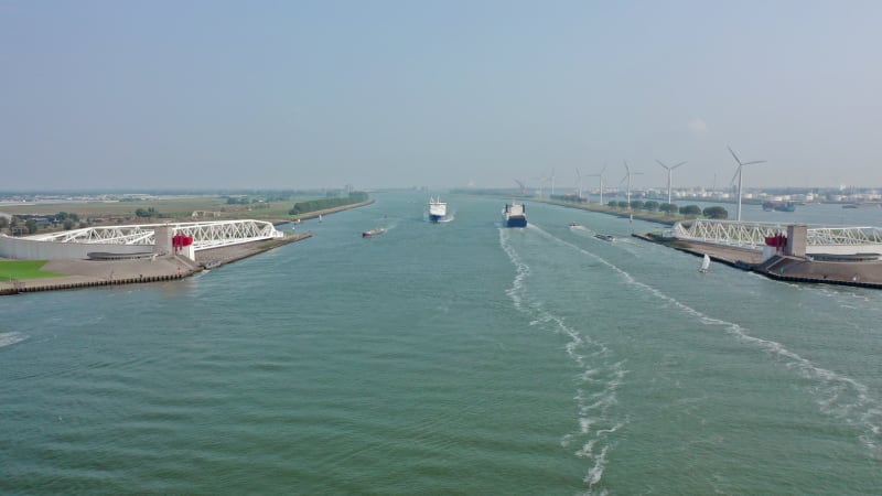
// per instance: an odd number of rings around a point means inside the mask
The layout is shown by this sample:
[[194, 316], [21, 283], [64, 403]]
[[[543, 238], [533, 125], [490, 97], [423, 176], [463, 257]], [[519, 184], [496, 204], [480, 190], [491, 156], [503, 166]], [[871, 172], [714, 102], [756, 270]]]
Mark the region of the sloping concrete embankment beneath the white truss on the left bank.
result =
[[195, 261], [180, 256], [154, 260], [51, 260], [43, 266], [43, 270], [65, 276], [3, 281], [0, 282], [0, 294], [171, 281], [310, 237], [311, 233], [294, 233], [280, 239], [201, 250], [196, 252]]

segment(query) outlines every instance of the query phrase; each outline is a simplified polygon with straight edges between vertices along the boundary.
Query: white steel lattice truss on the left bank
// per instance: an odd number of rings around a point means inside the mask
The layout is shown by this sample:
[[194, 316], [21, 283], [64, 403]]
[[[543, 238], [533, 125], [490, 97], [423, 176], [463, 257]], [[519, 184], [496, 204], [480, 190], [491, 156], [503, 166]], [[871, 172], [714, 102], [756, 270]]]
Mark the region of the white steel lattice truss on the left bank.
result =
[[109, 245], [154, 245], [154, 229], [171, 227], [173, 234], [193, 237], [194, 250], [205, 250], [222, 246], [281, 238], [283, 233], [276, 230], [265, 220], [218, 220], [176, 224], [138, 224], [130, 226], [96, 226], [64, 233], [31, 236], [30, 239], [56, 242], [85, 242]]

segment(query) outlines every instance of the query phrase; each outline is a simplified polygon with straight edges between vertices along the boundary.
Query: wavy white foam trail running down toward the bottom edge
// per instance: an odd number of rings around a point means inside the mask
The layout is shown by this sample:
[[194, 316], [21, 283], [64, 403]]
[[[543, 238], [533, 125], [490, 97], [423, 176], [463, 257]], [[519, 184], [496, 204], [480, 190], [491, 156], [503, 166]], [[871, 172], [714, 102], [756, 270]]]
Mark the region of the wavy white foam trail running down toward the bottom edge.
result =
[[[595, 489], [600, 489], [598, 484], [606, 466], [606, 453], [613, 445], [609, 439], [610, 434], [624, 425], [621, 421], [613, 422], [611, 409], [617, 405], [616, 390], [622, 385], [627, 370], [624, 369], [624, 362], [611, 359], [613, 353], [603, 343], [567, 325], [562, 317], [545, 310], [540, 301], [529, 300], [526, 284], [530, 277], [530, 267], [512, 246], [508, 231], [509, 229], [499, 229], [499, 245], [515, 266], [516, 274], [512, 288], [506, 291], [506, 294], [512, 299], [515, 309], [531, 317], [531, 326], [547, 328], [555, 334], [569, 337], [570, 341], [564, 345], [564, 349], [567, 356], [582, 370], [577, 376], [579, 384], [594, 391], [588, 392], [582, 388], [577, 390], [573, 399], [579, 411], [579, 428], [577, 431], [563, 435], [560, 441], [561, 446], [567, 448], [577, 438], [585, 440], [574, 454], [594, 461], [584, 477], [584, 482], [589, 485], [589, 492], [593, 493]], [[591, 358], [591, 364], [587, 362], [588, 358]], [[598, 444], [602, 445], [599, 452], [595, 449]], [[605, 494], [605, 492], [601, 494]]]

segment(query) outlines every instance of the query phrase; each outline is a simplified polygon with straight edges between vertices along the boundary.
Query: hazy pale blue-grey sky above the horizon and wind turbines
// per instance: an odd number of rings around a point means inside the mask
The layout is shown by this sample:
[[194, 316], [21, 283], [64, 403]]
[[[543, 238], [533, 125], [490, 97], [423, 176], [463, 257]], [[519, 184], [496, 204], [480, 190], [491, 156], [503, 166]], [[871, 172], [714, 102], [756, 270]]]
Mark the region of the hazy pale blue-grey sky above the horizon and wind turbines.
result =
[[[0, 190], [882, 186], [882, 1], [0, 0]], [[594, 185], [596, 177], [585, 177]]]

